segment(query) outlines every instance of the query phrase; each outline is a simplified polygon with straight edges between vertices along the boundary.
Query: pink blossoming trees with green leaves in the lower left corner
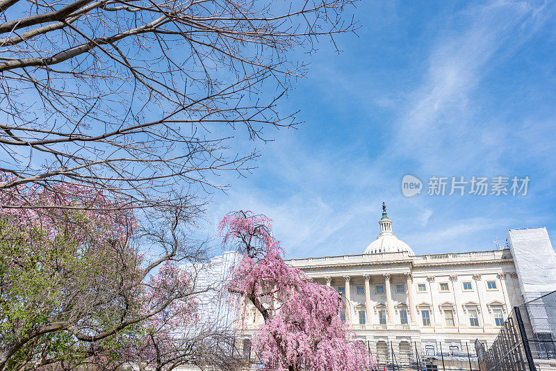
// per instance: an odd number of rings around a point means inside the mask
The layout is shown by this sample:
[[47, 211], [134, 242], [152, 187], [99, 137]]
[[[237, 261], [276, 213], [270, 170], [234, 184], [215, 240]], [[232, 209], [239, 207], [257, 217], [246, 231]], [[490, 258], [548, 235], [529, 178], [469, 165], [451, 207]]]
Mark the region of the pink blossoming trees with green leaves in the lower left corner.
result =
[[[18, 207], [28, 202], [38, 207]], [[226, 365], [213, 345], [232, 340], [210, 328], [175, 333], [197, 320], [208, 289], [179, 267], [206, 256], [183, 229], [189, 211], [147, 226], [101, 192], [68, 185], [0, 190], [0, 204], [12, 206], [0, 209], [0, 371]]]

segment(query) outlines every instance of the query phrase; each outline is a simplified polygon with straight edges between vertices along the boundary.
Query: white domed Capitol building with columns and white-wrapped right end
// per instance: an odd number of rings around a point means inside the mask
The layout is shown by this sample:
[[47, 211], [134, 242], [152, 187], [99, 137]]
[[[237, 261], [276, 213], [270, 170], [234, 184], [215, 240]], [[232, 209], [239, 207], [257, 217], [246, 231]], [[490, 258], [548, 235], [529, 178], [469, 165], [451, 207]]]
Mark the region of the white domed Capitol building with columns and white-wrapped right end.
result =
[[[467, 350], [475, 354], [475, 339], [490, 346], [509, 311], [538, 293], [530, 291], [556, 289], [556, 258], [546, 228], [510, 230], [505, 248], [416, 255], [393, 233], [384, 204], [378, 224], [377, 239], [361, 255], [287, 263], [342, 295], [341, 318], [381, 365], [442, 352], [452, 367], [468, 370], [473, 362], [476, 368], [476, 358], [467, 356]], [[530, 255], [548, 264], [542, 273], [548, 274], [546, 287], [534, 286]], [[252, 320], [242, 329], [244, 347], [261, 323], [252, 309]]]

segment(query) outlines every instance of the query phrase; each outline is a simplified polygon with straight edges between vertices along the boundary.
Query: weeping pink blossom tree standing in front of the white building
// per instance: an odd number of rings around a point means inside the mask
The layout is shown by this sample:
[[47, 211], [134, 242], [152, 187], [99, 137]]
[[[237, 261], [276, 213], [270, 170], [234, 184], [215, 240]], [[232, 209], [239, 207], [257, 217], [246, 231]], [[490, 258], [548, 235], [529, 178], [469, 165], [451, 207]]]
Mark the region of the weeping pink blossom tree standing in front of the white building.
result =
[[271, 220], [250, 211], [229, 213], [220, 222], [224, 244], [243, 253], [227, 288], [239, 305], [252, 305], [264, 324], [253, 348], [265, 370], [363, 371], [370, 354], [341, 321], [341, 297], [332, 288], [287, 265]]

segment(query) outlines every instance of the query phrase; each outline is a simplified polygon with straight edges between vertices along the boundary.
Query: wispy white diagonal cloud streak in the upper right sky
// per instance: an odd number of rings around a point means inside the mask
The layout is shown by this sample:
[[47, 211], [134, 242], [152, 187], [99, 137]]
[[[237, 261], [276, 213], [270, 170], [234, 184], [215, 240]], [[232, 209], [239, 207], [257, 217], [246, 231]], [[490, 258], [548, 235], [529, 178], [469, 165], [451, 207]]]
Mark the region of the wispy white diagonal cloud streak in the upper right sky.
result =
[[[499, 165], [505, 144], [499, 139], [505, 129], [482, 122], [476, 90], [550, 14], [553, 10], [547, 11], [545, 4], [493, 1], [451, 16], [450, 24], [457, 29], [439, 30], [436, 36], [423, 83], [397, 123], [392, 145], [396, 153], [407, 156], [411, 148], [424, 172]], [[464, 156], [454, 156], [455, 150]]]

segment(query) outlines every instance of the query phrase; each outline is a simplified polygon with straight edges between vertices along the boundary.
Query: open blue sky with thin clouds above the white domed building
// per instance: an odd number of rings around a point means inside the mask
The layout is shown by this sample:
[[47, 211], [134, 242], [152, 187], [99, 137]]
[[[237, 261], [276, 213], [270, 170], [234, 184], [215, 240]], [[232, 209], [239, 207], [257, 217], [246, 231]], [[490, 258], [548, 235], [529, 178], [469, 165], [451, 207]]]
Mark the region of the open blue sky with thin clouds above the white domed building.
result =
[[[416, 254], [493, 249], [508, 229], [556, 242], [556, 4], [363, 1], [361, 28], [322, 40], [279, 104], [295, 130], [267, 131], [250, 176], [220, 177], [209, 226], [240, 208], [274, 220], [288, 258], [361, 254], [386, 201]], [[405, 174], [529, 176], [528, 195], [401, 192]]]

